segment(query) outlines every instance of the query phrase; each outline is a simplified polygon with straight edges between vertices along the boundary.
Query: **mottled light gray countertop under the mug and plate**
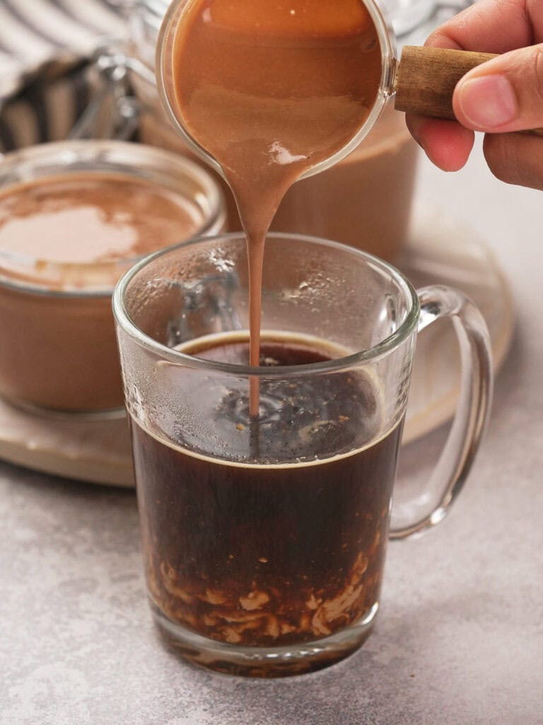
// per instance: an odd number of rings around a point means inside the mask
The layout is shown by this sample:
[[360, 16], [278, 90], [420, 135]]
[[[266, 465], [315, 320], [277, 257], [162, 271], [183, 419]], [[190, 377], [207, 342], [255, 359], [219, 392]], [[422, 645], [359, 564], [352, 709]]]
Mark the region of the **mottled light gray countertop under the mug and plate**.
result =
[[455, 175], [424, 160], [418, 195], [494, 249], [517, 323], [471, 479], [442, 525], [390, 544], [366, 645], [292, 679], [186, 666], [151, 622], [134, 494], [0, 463], [0, 725], [542, 725], [543, 193], [478, 147]]

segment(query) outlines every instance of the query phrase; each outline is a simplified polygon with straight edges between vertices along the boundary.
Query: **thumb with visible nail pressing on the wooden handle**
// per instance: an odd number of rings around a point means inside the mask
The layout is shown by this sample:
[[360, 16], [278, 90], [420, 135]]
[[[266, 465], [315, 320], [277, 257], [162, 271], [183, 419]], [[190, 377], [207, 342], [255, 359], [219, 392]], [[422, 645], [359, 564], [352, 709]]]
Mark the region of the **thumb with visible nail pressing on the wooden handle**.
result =
[[458, 81], [452, 107], [463, 126], [487, 133], [543, 126], [543, 43], [473, 68]]

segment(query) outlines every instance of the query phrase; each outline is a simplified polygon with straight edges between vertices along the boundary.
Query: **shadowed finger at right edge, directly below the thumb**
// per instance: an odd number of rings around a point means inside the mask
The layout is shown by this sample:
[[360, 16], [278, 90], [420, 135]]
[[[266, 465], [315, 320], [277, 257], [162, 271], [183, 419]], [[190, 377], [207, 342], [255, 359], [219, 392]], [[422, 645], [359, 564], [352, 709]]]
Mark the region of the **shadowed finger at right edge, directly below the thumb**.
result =
[[543, 139], [487, 133], [483, 150], [489, 169], [500, 181], [543, 191]]

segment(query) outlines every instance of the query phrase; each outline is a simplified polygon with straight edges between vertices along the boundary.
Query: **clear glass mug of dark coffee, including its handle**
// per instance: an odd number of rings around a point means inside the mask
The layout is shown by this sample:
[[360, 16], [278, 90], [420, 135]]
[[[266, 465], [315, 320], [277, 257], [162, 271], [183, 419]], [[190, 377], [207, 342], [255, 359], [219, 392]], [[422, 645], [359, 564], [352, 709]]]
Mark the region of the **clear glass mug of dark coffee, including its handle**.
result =
[[[248, 676], [353, 653], [374, 625], [387, 538], [441, 521], [473, 462], [492, 389], [479, 311], [356, 249], [271, 234], [261, 367], [246, 364], [241, 235], [139, 262], [114, 315], [161, 632], [183, 658]], [[458, 333], [458, 411], [429, 486], [390, 526], [416, 336], [438, 318]]]

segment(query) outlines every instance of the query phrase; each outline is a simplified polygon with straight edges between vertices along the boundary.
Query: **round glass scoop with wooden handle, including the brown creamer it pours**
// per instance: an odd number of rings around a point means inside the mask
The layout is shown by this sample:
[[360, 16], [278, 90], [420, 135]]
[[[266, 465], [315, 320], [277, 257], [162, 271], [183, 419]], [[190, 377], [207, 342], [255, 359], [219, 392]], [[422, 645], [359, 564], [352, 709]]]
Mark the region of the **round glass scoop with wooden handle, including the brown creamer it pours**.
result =
[[264, 241], [288, 188], [347, 155], [394, 92], [398, 109], [450, 117], [455, 83], [490, 57], [408, 47], [398, 63], [374, 0], [174, 0], [159, 36], [159, 90], [237, 202], [250, 365], [259, 363]]

